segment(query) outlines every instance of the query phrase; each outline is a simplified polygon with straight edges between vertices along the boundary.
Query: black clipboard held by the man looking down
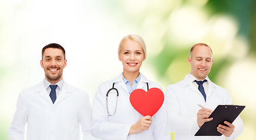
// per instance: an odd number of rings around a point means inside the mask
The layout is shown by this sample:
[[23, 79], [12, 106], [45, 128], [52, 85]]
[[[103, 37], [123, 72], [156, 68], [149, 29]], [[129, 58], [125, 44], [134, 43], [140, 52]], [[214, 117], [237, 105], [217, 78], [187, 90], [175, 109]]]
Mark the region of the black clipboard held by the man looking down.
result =
[[233, 123], [235, 118], [244, 110], [245, 106], [237, 105], [218, 105], [213, 113], [208, 118], [213, 117], [213, 120], [204, 122], [200, 129], [198, 129], [195, 136], [221, 136], [217, 131], [219, 124], [225, 125], [224, 121]]

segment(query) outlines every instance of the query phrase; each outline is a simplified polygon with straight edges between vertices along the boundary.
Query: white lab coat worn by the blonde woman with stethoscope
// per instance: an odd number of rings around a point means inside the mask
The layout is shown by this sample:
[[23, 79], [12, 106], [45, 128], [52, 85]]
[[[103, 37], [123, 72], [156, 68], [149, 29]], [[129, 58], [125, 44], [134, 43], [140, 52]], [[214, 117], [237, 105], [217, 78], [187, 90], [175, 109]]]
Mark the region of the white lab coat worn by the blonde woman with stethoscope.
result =
[[[92, 129], [91, 133], [100, 139], [130, 139], [130, 140], [170, 140], [170, 131], [167, 129], [167, 111], [165, 102], [161, 106], [160, 110], [152, 117], [152, 124], [149, 129], [139, 133], [128, 135], [130, 127], [136, 124], [137, 121], [143, 115], [138, 113], [130, 104], [130, 94], [126, 88], [123, 81], [123, 74], [117, 76], [117, 78], [110, 81], [103, 82], [97, 89], [96, 95], [93, 100], [92, 107]], [[159, 88], [161, 86], [157, 83], [149, 81], [144, 75], [141, 74], [140, 81], [137, 85], [137, 89], [144, 89], [147, 91], [147, 84], [149, 83], [150, 88]], [[107, 114], [107, 103], [106, 103], [106, 93], [107, 90], [112, 88], [114, 83], [114, 88], [119, 91], [119, 98], [117, 100], [116, 114], [114, 116], [108, 116]], [[113, 114], [114, 108], [116, 106], [116, 92], [112, 90], [109, 93], [109, 111]]]

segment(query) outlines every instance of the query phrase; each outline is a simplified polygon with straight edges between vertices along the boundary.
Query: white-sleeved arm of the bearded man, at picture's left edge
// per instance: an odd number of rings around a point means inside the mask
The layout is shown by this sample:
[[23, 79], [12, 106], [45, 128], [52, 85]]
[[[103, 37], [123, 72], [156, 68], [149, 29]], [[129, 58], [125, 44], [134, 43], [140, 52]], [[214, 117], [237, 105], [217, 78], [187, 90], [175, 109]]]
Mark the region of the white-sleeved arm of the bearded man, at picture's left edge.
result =
[[28, 120], [25, 101], [22, 93], [19, 94], [16, 111], [12, 120], [12, 125], [8, 130], [9, 140], [23, 140], [25, 134], [25, 124]]

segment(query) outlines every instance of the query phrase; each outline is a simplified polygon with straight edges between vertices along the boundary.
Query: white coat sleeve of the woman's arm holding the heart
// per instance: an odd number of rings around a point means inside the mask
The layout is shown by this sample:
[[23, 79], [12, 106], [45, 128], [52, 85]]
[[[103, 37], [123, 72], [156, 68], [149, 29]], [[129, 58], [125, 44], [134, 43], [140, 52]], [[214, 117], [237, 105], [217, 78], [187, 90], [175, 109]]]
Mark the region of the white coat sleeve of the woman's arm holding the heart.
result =
[[[106, 86], [102, 83], [93, 100], [91, 133], [101, 139], [127, 139], [132, 125], [113, 123], [108, 120]], [[119, 105], [119, 107], [121, 107]]]

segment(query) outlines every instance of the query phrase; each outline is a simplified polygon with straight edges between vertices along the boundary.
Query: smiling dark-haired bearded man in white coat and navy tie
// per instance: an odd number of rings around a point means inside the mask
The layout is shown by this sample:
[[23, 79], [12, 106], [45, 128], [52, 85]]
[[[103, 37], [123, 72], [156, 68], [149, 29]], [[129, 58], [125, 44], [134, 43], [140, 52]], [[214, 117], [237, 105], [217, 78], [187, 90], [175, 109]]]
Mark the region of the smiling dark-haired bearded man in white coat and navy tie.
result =
[[89, 132], [89, 97], [63, 80], [66, 65], [62, 46], [52, 43], [43, 47], [45, 78], [19, 94], [9, 140], [24, 139], [26, 123], [27, 140], [80, 140], [80, 125], [83, 139], [95, 139]]

